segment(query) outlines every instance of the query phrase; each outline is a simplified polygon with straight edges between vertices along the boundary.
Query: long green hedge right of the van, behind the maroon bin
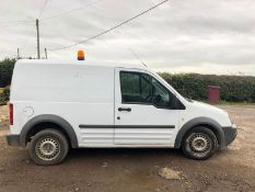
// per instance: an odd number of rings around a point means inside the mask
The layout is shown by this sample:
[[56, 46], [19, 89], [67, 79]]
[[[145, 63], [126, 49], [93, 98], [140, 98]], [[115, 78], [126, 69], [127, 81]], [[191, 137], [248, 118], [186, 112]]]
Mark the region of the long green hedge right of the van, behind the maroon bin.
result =
[[220, 98], [229, 102], [255, 102], [255, 77], [161, 72], [182, 95], [207, 100], [208, 86], [220, 87]]

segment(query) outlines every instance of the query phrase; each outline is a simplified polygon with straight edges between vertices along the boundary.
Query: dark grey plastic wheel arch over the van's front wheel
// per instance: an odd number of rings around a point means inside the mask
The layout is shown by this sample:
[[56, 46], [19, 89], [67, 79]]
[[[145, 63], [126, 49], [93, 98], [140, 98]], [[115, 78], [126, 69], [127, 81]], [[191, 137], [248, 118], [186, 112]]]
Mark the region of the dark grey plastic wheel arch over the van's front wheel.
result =
[[177, 136], [175, 138], [174, 148], [179, 148], [185, 134], [187, 134], [189, 131], [192, 131], [194, 127], [197, 127], [197, 126], [208, 127], [210, 131], [215, 133], [219, 145], [221, 147], [224, 145], [223, 143], [224, 132], [221, 128], [221, 125], [212, 118], [200, 116], [200, 117], [196, 117], [196, 118], [188, 121], [182, 126], [182, 128], [179, 128]]

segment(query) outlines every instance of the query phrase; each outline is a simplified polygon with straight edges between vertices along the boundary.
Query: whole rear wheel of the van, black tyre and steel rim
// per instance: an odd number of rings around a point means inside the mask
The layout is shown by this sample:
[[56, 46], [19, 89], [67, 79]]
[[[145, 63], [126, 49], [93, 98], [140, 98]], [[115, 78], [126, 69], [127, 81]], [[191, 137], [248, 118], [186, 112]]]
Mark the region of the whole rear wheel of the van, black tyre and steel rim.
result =
[[28, 151], [35, 163], [53, 166], [60, 163], [68, 150], [68, 140], [61, 132], [44, 129], [32, 137]]

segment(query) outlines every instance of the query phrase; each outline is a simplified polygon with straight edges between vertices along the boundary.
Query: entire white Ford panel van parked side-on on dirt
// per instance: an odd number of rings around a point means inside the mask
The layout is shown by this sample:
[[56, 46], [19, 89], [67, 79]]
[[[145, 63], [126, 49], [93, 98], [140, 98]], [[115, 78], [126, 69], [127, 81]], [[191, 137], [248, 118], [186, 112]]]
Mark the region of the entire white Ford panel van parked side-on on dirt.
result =
[[165, 147], [207, 159], [236, 136], [228, 113], [183, 98], [146, 67], [19, 60], [10, 95], [10, 146], [38, 165], [69, 148]]

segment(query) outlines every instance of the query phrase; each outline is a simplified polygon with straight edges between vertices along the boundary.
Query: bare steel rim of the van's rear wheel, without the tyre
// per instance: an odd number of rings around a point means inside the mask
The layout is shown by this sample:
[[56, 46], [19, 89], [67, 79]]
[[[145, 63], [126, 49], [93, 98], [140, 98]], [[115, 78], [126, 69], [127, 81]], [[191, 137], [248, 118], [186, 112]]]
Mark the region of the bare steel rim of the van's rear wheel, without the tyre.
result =
[[42, 138], [37, 142], [35, 151], [42, 160], [54, 160], [60, 154], [60, 145], [54, 137]]

